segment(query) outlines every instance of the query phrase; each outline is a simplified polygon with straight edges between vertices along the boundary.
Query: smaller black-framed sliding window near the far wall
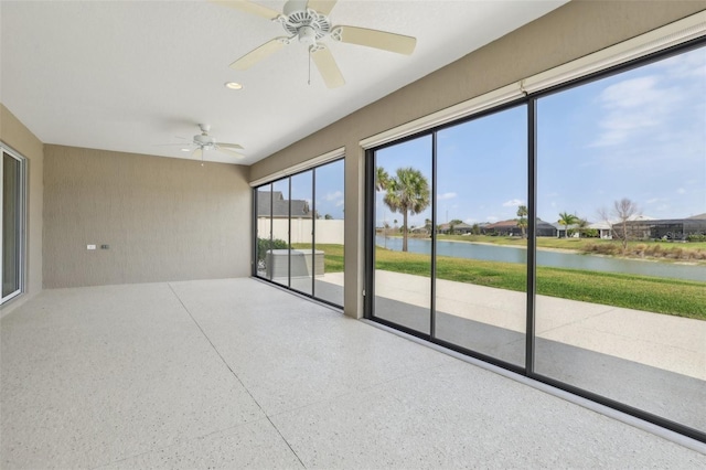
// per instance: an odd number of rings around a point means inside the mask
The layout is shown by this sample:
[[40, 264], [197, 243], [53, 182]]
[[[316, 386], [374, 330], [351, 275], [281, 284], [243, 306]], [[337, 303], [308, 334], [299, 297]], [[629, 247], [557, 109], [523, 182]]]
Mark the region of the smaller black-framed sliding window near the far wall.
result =
[[343, 306], [343, 160], [254, 189], [253, 275]]

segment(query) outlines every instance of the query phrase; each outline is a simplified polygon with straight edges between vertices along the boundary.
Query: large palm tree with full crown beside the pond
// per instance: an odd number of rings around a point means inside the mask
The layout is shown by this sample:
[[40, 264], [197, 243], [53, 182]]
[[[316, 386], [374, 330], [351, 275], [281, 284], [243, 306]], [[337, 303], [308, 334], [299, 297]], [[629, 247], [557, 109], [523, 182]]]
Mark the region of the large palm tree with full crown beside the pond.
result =
[[419, 170], [398, 168], [387, 180], [387, 193], [383, 199], [393, 212], [403, 216], [402, 250], [407, 250], [407, 216], [419, 214], [429, 206], [429, 182]]

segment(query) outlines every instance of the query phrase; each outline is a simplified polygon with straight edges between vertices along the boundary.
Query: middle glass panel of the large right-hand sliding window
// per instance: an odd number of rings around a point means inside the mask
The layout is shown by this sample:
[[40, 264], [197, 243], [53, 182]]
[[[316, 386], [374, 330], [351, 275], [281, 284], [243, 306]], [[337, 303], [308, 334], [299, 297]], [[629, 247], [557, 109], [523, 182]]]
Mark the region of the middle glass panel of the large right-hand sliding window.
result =
[[526, 107], [437, 133], [436, 338], [524, 366]]

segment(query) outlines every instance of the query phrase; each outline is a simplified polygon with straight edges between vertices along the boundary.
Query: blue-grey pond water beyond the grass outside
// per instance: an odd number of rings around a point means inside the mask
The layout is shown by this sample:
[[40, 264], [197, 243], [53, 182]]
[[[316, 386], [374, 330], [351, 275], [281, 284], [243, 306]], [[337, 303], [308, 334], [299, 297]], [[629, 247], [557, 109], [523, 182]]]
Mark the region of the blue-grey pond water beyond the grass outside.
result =
[[[396, 252], [402, 250], [402, 237], [376, 236], [375, 243]], [[408, 238], [407, 248], [411, 253], [431, 253], [428, 238]], [[515, 246], [483, 245], [468, 242], [437, 242], [439, 256], [485, 259], [490, 261], [527, 263], [527, 250]], [[607, 273], [629, 273], [643, 276], [699, 280], [706, 282], [706, 266], [677, 265], [672, 263], [621, 259], [608, 256], [592, 256], [574, 253], [537, 249], [537, 266], [587, 269]]]

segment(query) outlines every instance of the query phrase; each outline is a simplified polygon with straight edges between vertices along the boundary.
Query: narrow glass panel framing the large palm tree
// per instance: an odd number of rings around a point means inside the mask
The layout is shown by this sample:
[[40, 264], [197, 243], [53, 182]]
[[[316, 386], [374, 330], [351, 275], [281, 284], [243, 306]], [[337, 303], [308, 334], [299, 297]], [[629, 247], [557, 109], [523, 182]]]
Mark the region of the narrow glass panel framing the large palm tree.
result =
[[431, 137], [375, 152], [374, 316], [430, 334]]

